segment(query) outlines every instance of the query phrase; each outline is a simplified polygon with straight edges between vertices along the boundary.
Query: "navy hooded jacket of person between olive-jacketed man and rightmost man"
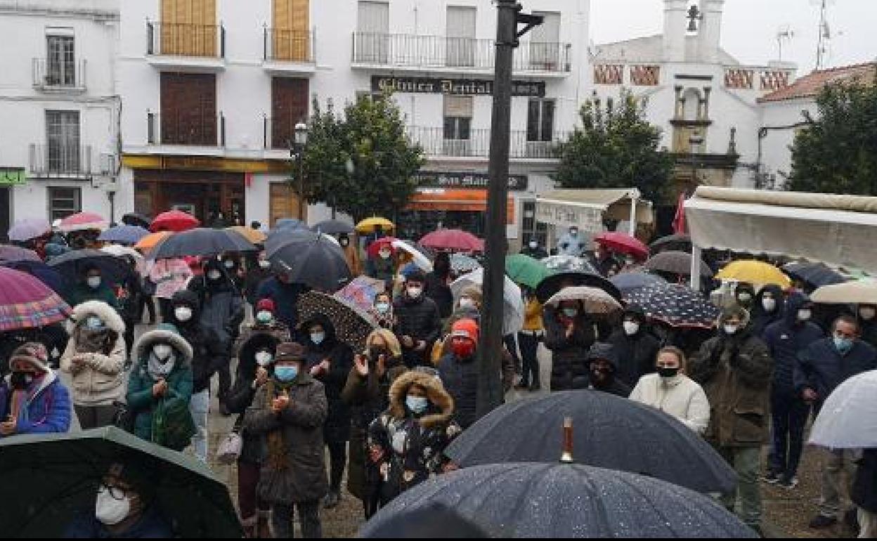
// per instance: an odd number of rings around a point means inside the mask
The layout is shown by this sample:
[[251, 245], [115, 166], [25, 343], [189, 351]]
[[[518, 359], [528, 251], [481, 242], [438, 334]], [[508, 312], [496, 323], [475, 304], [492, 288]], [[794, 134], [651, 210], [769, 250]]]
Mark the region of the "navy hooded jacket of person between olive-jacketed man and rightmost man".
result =
[[798, 321], [798, 310], [809, 303], [807, 295], [794, 293], [786, 302], [786, 313], [780, 321], [767, 325], [762, 338], [767, 352], [774, 359], [774, 386], [771, 392], [779, 396], [795, 395], [795, 363], [798, 353], [810, 344], [825, 338], [819, 325]]

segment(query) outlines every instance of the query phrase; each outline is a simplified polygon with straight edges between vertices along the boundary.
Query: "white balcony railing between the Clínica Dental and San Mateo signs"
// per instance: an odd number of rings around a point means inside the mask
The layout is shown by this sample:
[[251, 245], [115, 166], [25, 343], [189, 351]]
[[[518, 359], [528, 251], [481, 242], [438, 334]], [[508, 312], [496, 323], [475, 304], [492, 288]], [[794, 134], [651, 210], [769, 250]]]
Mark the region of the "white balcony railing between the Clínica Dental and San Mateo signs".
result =
[[[490, 130], [469, 130], [469, 139], [445, 139], [444, 128], [408, 126], [408, 138], [424, 149], [431, 157], [488, 158], [490, 154]], [[552, 140], [529, 140], [525, 131], [510, 134], [509, 157], [517, 160], [553, 160], [560, 143], [566, 141], [567, 133], [554, 133]]]

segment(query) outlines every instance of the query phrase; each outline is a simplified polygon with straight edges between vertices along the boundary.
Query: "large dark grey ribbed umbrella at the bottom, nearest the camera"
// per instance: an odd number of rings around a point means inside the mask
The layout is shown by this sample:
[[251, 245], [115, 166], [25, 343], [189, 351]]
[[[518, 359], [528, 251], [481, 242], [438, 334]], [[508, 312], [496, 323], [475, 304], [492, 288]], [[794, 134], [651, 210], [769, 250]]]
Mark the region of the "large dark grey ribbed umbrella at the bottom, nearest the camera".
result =
[[377, 537], [436, 504], [498, 538], [757, 537], [709, 496], [667, 481], [533, 463], [474, 466], [424, 481], [378, 511], [360, 537]]

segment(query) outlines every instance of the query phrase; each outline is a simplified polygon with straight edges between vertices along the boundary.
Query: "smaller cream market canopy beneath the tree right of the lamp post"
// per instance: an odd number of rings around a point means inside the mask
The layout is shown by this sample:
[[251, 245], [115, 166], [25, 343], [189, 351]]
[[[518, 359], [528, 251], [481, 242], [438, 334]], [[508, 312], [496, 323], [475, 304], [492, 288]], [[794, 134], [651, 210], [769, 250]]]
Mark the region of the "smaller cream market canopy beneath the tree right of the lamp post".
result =
[[631, 200], [637, 202], [637, 223], [652, 224], [652, 202], [641, 199], [639, 190], [558, 189], [536, 198], [536, 219], [560, 227], [577, 225], [581, 231], [603, 231], [604, 218], [631, 219]]

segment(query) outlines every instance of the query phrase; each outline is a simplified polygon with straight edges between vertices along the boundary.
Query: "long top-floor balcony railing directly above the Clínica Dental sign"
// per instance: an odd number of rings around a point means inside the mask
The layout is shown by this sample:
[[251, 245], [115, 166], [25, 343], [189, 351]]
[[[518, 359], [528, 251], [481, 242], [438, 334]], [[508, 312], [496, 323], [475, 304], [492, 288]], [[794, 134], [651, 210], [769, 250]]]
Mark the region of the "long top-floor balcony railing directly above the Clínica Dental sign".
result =
[[[572, 70], [570, 44], [522, 43], [515, 50], [517, 74], [565, 77]], [[494, 39], [446, 38], [414, 34], [353, 34], [353, 68], [398, 72], [493, 75]]]

